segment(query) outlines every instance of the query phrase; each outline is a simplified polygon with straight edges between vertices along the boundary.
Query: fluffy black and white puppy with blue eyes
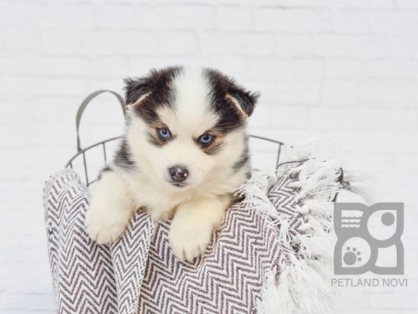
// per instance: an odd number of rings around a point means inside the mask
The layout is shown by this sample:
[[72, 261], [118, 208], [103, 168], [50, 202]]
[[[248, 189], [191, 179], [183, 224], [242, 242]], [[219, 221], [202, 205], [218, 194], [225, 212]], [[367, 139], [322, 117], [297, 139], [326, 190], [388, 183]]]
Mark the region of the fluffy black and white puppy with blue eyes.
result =
[[125, 135], [92, 191], [86, 230], [110, 243], [145, 208], [155, 220], [173, 217], [173, 254], [192, 262], [249, 176], [245, 125], [258, 94], [210, 68], [152, 70], [125, 83]]

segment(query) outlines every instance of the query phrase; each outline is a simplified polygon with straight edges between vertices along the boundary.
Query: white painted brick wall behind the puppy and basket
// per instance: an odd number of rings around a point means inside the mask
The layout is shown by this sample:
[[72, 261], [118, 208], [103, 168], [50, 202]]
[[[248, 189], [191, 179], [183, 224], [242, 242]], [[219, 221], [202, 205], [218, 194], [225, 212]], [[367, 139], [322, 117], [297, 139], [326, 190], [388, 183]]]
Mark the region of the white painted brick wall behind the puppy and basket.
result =
[[[408, 288], [345, 289], [336, 312], [418, 313], [415, 0], [0, 0], [0, 312], [54, 313], [41, 188], [75, 151], [79, 102], [176, 63], [260, 90], [251, 133], [334, 135], [378, 200], [405, 202]], [[111, 100], [86, 111], [85, 144], [121, 132]]]

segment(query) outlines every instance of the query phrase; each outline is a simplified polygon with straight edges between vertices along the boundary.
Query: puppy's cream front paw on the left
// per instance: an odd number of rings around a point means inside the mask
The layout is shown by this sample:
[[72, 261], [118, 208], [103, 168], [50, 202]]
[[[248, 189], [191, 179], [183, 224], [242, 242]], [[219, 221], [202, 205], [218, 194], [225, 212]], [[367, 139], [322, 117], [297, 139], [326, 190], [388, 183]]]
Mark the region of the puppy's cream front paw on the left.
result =
[[120, 211], [93, 206], [86, 214], [87, 234], [98, 244], [109, 244], [123, 234], [129, 218]]

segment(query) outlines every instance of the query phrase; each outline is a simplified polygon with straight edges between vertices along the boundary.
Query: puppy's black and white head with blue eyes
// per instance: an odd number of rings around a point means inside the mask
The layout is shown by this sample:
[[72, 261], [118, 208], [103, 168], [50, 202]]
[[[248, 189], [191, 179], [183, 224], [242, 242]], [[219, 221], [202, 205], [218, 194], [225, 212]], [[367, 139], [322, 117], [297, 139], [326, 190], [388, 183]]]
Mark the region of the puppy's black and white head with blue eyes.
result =
[[165, 68], [126, 82], [127, 140], [148, 177], [174, 190], [210, 188], [247, 166], [244, 127], [256, 94], [204, 68]]

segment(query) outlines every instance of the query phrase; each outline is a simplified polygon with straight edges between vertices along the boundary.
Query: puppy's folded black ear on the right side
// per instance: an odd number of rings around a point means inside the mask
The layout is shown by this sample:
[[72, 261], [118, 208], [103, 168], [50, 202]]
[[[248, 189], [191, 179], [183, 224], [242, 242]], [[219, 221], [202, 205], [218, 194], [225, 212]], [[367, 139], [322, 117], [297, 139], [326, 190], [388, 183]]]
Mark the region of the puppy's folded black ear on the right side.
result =
[[242, 118], [247, 119], [254, 111], [260, 93], [246, 91], [242, 87], [233, 86], [228, 89], [225, 99], [232, 103]]

